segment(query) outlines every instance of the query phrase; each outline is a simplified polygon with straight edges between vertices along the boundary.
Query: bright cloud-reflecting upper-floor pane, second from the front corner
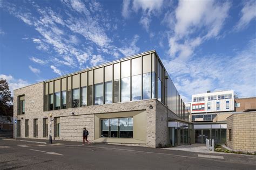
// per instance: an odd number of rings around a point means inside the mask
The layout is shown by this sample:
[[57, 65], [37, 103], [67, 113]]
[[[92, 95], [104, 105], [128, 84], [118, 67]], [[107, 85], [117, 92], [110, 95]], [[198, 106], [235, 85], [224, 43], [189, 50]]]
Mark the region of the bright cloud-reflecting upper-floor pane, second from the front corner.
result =
[[132, 101], [142, 100], [142, 75], [132, 76]]

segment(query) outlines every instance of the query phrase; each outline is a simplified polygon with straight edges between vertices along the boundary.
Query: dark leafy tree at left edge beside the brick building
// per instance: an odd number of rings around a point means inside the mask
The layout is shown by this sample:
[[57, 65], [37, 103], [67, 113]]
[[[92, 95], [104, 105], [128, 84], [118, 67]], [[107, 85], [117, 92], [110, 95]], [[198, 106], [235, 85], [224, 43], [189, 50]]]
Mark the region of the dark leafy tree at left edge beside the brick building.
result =
[[9, 90], [9, 85], [7, 80], [0, 79], [0, 115], [3, 116], [13, 116], [14, 106], [12, 104], [13, 97], [11, 96], [11, 91]]

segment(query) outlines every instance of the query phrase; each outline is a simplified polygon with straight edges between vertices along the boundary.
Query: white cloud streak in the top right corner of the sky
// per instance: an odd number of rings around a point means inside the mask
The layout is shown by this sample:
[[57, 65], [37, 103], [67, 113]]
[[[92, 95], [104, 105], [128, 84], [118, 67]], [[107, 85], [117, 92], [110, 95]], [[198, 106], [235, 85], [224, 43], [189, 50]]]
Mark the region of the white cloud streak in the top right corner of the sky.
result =
[[241, 18], [239, 19], [237, 25], [235, 25], [235, 30], [237, 31], [244, 29], [251, 22], [251, 20], [256, 18], [256, 2], [253, 0], [245, 2], [240, 15]]

